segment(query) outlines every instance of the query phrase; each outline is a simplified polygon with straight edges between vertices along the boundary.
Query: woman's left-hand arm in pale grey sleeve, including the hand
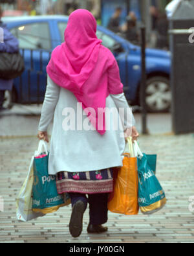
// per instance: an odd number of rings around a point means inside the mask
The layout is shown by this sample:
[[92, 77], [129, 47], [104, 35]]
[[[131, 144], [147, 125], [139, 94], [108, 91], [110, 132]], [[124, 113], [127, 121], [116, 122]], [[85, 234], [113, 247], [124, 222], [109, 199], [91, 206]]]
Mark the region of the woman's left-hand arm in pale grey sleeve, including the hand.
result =
[[60, 87], [57, 86], [50, 77], [47, 78], [47, 90], [45, 93], [45, 100], [41, 110], [41, 118], [38, 126], [38, 138], [44, 139], [48, 142], [47, 129], [48, 125], [53, 119], [54, 110], [59, 99]]

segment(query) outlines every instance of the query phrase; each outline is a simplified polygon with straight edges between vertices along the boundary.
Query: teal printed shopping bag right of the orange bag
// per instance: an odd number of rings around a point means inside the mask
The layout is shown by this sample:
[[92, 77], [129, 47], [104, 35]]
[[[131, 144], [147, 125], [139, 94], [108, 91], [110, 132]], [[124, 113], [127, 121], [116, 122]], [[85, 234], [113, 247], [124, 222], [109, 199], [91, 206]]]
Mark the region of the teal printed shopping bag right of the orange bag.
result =
[[[138, 144], [135, 141], [135, 154]], [[138, 204], [140, 211], [145, 215], [149, 215], [159, 211], [166, 204], [165, 192], [160, 182], [156, 178], [146, 154], [137, 154], [138, 165]]]

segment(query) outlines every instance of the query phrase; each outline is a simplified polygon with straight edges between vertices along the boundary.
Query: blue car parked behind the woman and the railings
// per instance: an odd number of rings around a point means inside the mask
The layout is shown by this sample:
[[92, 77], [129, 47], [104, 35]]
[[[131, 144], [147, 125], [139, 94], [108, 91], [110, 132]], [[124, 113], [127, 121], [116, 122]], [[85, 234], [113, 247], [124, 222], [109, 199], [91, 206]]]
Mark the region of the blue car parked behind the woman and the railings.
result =
[[[23, 75], [14, 80], [12, 101], [21, 104], [43, 102], [47, 86], [46, 67], [52, 50], [64, 41], [67, 16], [5, 17], [3, 22], [19, 40], [25, 60]], [[141, 49], [104, 27], [96, 32], [120, 67], [125, 96], [130, 104], [139, 104]], [[146, 49], [146, 104], [153, 112], [167, 111], [171, 105], [169, 52]]]

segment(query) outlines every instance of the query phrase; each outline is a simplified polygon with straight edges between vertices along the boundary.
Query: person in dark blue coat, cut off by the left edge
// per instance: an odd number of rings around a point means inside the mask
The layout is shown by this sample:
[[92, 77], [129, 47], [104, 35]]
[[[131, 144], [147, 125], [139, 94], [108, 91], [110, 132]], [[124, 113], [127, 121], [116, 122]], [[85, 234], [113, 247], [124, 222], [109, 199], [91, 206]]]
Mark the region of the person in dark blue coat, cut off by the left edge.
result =
[[[3, 43], [0, 43], [0, 58], [1, 58], [1, 52], [10, 52], [14, 53], [19, 51], [19, 43], [17, 41], [17, 38], [15, 38], [12, 33], [6, 28], [6, 25], [1, 21], [3, 11], [0, 6], [0, 28], [1, 33], [3, 32]], [[0, 111], [5, 110], [3, 108], [3, 102], [5, 99], [5, 91], [12, 91], [13, 86], [13, 80], [5, 80], [1, 79], [0, 77]]]

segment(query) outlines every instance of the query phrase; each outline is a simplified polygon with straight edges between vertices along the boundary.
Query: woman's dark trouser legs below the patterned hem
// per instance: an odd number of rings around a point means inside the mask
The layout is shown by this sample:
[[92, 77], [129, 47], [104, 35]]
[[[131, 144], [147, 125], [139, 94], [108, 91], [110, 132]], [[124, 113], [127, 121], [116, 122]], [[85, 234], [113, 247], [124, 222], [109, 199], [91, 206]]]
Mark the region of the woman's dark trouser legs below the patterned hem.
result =
[[78, 200], [81, 200], [85, 204], [85, 208], [87, 207], [87, 203], [89, 203], [89, 224], [101, 225], [107, 222], [109, 193], [88, 194], [88, 198], [85, 194], [80, 193], [70, 192], [69, 195], [72, 207]]

